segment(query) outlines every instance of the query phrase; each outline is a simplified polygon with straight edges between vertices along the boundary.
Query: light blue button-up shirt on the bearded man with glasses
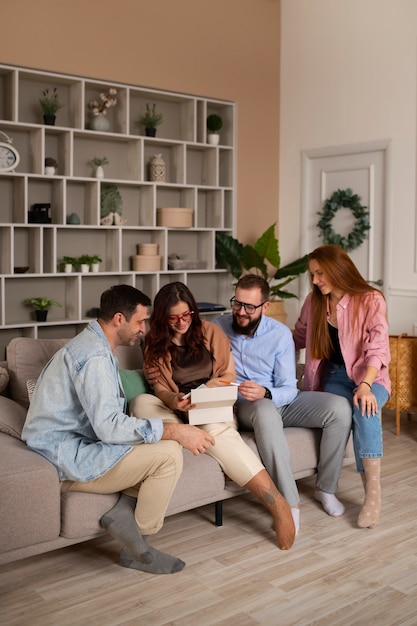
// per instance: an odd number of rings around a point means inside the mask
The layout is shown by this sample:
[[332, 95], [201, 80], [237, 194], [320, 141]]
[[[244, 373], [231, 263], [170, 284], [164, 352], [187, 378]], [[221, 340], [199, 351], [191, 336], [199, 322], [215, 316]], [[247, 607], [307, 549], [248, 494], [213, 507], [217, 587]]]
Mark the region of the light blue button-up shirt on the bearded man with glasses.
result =
[[288, 326], [262, 315], [254, 335], [248, 337], [235, 333], [231, 315], [216, 317], [214, 322], [230, 339], [238, 383], [253, 380], [267, 387], [278, 407], [296, 398], [295, 346]]

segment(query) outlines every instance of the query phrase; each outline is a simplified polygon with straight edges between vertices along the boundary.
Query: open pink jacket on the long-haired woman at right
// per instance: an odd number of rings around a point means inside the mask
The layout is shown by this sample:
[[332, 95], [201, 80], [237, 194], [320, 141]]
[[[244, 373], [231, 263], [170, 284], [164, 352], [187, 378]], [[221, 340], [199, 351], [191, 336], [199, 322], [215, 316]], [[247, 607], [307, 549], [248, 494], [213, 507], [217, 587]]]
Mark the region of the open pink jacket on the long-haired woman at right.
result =
[[[310, 352], [311, 340], [311, 294], [307, 296], [294, 329], [297, 350], [306, 348], [304, 389], [314, 391], [322, 388], [320, 359], [313, 359]], [[365, 306], [358, 313], [353, 329], [353, 298], [345, 294], [336, 307], [339, 341], [346, 372], [357, 385], [363, 380], [368, 366], [376, 367], [378, 374], [374, 382], [383, 385], [390, 393], [391, 381], [388, 374], [390, 362], [388, 322], [385, 300], [378, 292], [366, 296]]]

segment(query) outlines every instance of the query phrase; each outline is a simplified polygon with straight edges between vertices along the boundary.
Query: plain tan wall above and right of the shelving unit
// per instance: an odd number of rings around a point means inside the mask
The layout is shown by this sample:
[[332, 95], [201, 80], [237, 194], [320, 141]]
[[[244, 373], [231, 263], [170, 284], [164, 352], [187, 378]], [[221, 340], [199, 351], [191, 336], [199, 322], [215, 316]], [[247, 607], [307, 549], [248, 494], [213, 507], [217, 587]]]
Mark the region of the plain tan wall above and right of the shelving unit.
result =
[[3, 63], [236, 101], [237, 235], [278, 219], [279, 0], [0, 4]]

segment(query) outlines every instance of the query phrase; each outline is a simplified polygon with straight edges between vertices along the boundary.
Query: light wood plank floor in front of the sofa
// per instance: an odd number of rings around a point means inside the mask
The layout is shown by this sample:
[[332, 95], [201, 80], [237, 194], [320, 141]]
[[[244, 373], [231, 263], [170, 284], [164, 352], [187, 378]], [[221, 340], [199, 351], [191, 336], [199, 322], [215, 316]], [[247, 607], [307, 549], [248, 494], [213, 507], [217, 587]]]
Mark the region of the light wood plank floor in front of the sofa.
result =
[[312, 500], [314, 481], [299, 482], [301, 531], [294, 546], [275, 546], [268, 515], [251, 496], [166, 520], [155, 547], [187, 567], [153, 576], [120, 567], [116, 544], [83, 545], [0, 567], [2, 626], [265, 626], [417, 624], [417, 420], [395, 435], [384, 413], [383, 515], [360, 530], [362, 501], [354, 466], [344, 468], [343, 517]]

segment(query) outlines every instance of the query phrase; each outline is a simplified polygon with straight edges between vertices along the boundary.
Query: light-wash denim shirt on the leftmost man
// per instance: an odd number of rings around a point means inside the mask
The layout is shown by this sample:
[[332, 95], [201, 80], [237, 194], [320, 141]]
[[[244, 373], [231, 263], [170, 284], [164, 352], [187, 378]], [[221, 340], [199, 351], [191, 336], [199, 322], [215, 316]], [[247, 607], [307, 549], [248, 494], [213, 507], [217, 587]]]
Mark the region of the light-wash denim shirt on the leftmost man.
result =
[[118, 360], [93, 321], [42, 370], [22, 439], [55, 465], [60, 480], [90, 481], [132, 445], [161, 439], [162, 420], [137, 419], [125, 411]]

